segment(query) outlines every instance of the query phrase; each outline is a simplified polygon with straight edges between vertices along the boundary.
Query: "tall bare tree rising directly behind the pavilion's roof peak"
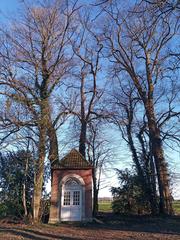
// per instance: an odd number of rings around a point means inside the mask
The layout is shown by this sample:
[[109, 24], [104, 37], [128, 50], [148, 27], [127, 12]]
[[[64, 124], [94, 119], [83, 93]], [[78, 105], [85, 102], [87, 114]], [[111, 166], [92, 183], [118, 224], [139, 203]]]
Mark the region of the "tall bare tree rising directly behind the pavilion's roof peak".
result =
[[80, 121], [79, 151], [85, 157], [88, 124], [99, 117], [101, 112], [97, 110], [97, 106], [103, 95], [103, 87], [98, 85], [103, 45], [92, 31], [94, 25], [90, 23], [89, 15], [80, 16], [80, 24], [81, 30], [72, 42], [78, 63], [74, 76], [80, 81], [80, 86], [74, 85], [73, 88], [79, 88], [77, 95], [80, 97], [80, 106], [76, 106], [71, 112]]

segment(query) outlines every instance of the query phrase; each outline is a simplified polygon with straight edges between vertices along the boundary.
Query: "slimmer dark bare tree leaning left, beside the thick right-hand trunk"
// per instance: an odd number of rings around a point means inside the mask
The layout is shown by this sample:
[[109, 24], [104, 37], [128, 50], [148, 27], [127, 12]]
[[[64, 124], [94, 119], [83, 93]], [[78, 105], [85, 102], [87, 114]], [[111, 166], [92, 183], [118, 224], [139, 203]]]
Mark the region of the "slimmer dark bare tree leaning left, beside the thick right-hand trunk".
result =
[[[119, 80], [119, 81], [118, 81]], [[117, 82], [113, 89], [110, 106], [114, 109], [111, 116], [112, 122], [119, 128], [122, 139], [128, 144], [132, 153], [132, 160], [140, 179], [141, 187], [150, 203], [152, 214], [158, 213], [158, 201], [156, 191], [156, 175], [154, 160], [151, 157], [149, 146], [149, 135], [144, 112], [138, 111], [141, 108], [140, 99], [131, 81]]]

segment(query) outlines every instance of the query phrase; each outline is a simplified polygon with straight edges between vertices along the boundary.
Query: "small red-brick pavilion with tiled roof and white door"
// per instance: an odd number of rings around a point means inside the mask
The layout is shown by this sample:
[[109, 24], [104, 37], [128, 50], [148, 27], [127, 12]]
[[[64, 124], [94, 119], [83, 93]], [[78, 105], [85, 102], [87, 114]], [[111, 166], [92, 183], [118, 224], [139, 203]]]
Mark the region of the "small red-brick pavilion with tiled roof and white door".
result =
[[92, 220], [92, 166], [71, 150], [52, 168], [49, 223]]

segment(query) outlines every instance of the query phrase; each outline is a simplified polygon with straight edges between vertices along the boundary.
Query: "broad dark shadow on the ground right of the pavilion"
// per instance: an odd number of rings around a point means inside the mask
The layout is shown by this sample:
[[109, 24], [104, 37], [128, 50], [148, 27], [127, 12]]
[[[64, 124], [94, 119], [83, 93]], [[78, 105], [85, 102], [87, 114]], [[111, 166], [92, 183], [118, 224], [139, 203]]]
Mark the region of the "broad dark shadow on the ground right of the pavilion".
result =
[[92, 223], [79, 223], [76, 224], [76, 226], [90, 229], [111, 229], [180, 235], [180, 216], [122, 216], [113, 213], [101, 213]]

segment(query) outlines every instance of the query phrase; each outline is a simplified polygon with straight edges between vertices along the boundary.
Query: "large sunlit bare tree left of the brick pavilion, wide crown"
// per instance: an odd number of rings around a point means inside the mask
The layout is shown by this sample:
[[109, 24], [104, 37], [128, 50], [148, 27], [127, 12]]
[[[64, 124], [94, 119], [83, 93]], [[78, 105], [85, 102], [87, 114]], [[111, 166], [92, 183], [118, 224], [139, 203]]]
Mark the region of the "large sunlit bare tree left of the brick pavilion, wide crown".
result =
[[[38, 1], [37, 5], [25, 3], [21, 18], [9, 31], [1, 29], [5, 36], [1, 51], [1, 94], [22, 108], [26, 125], [38, 129], [38, 162], [34, 184], [34, 221], [39, 220], [39, 207], [43, 184], [46, 139], [50, 142], [51, 164], [58, 161], [56, 126], [62, 113], [53, 116], [52, 96], [60, 81], [68, 73], [71, 54], [69, 40], [73, 34], [72, 24], [77, 10], [76, 1], [69, 5], [60, 1]], [[24, 115], [28, 119], [24, 121]]]

